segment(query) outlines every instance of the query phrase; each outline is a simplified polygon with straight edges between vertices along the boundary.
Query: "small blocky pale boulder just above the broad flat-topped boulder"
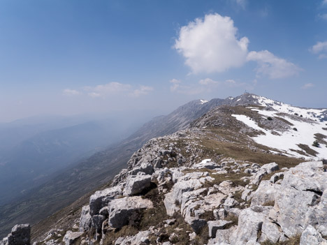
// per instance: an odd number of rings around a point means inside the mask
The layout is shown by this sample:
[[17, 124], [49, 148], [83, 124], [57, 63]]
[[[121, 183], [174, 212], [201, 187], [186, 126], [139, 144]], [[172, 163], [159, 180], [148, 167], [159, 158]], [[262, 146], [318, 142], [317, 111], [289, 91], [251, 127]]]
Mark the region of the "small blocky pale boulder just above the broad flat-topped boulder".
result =
[[130, 175], [126, 179], [124, 195], [136, 195], [151, 185], [151, 175]]

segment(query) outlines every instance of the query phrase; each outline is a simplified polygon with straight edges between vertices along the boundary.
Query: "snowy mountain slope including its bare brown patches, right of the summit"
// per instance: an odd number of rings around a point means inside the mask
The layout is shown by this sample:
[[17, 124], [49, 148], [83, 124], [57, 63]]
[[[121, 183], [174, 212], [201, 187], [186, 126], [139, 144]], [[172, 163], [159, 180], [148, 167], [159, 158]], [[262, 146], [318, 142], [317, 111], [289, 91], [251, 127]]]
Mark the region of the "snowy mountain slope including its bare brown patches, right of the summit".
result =
[[277, 149], [288, 156], [303, 157], [307, 160], [327, 158], [326, 109], [300, 108], [262, 96], [251, 96], [262, 107], [248, 108], [257, 112], [261, 119], [268, 121], [282, 119], [289, 124], [282, 130], [280, 128], [268, 129], [262, 124], [259, 125], [257, 118], [255, 121], [242, 114], [233, 114], [233, 117], [250, 128], [262, 132], [252, 137], [255, 142]]

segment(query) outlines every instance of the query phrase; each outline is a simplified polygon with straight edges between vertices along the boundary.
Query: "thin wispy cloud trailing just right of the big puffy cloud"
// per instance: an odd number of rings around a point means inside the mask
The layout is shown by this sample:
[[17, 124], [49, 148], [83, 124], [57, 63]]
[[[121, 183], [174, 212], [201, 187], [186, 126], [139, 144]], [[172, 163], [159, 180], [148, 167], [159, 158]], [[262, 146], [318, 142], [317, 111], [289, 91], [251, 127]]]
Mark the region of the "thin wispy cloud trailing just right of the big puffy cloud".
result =
[[252, 51], [247, 55], [248, 61], [256, 61], [256, 74], [267, 75], [270, 79], [278, 79], [298, 75], [300, 68], [285, 59], [276, 57], [268, 50]]

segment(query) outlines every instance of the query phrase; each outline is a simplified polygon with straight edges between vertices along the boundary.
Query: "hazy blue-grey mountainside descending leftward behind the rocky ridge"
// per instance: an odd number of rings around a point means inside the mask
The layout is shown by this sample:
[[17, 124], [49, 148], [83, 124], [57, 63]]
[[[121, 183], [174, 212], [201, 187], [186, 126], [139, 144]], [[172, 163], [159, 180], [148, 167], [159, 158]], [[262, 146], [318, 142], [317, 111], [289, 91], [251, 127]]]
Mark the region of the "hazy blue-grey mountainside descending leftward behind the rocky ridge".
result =
[[256, 99], [249, 94], [210, 101], [199, 99], [178, 107], [166, 116], [155, 117], [129, 138], [54, 173], [48, 182], [25, 193], [23, 198], [1, 206], [0, 236], [7, 235], [15, 223], [37, 223], [86, 193], [106, 185], [125, 168], [133, 152], [147, 140], [185, 129], [191, 121], [217, 106], [253, 103], [256, 103]]

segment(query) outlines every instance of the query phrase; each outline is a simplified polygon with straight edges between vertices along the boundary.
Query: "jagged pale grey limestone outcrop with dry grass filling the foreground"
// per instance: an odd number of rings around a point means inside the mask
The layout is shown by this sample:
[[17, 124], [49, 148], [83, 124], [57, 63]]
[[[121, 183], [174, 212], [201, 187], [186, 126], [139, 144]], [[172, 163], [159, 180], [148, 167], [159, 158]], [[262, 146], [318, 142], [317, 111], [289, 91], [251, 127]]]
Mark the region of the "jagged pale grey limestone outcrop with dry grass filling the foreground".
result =
[[[70, 230], [54, 228], [35, 244], [327, 244], [323, 161], [279, 169], [201, 159], [195, 137], [180, 131], [150, 140]], [[29, 244], [28, 235], [13, 240], [24, 235], [13, 228], [2, 244]]]

